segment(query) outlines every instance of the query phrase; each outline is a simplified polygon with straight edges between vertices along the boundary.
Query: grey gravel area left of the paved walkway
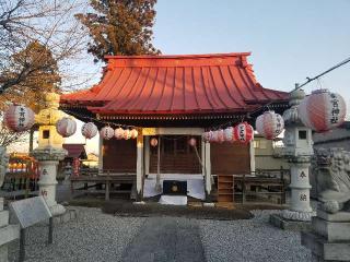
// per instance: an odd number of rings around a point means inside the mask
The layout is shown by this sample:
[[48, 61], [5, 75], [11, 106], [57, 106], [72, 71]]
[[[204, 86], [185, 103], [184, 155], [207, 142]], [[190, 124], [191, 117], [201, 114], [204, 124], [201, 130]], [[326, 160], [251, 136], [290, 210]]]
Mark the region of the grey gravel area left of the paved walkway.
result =
[[[58, 224], [54, 243], [47, 246], [47, 226], [28, 229], [26, 262], [112, 262], [120, 261], [122, 251], [144, 223], [141, 217], [115, 217], [100, 209], [74, 207], [78, 219]], [[18, 243], [10, 247], [18, 255]], [[11, 257], [10, 261], [15, 261]]]

